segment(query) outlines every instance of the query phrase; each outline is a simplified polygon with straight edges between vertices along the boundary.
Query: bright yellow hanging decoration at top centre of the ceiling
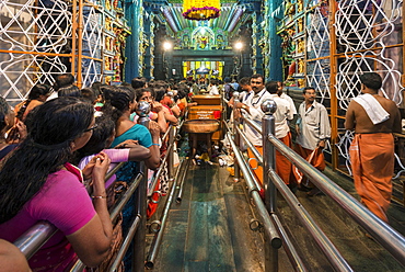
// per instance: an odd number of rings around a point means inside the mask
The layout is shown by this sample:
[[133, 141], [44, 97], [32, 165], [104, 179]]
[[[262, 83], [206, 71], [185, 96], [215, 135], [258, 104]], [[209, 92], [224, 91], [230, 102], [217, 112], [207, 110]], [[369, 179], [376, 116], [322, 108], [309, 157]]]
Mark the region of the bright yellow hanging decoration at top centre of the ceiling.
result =
[[220, 0], [185, 0], [183, 16], [188, 20], [207, 21], [219, 16]]

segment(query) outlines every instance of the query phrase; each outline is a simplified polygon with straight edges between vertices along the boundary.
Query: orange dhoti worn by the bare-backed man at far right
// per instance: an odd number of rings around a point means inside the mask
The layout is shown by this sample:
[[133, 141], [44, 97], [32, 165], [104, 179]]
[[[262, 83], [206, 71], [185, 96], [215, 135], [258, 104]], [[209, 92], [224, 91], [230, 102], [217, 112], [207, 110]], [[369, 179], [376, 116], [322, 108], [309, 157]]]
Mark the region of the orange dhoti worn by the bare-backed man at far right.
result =
[[389, 133], [356, 134], [350, 162], [361, 202], [378, 217], [389, 222], [386, 209], [392, 194], [394, 137]]

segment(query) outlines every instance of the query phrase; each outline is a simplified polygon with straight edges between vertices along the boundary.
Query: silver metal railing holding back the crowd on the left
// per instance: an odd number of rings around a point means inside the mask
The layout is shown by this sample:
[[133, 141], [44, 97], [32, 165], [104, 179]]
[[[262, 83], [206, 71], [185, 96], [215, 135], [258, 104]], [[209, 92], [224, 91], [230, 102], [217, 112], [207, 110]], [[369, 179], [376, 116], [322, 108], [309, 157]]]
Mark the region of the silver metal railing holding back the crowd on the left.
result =
[[[140, 121], [139, 123], [144, 126], [149, 126], [149, 118], [148, 113], [150, 111], [150, 107], [148, 104], [141, 103], [139, 106], [139, 110], [141, 111], [140, 114]], [[173, 181], [174, 178], [174, 166], [173, 166], [173, 146], [176, 138], [176, 133], [180, 131], [181, 125], [183, 122], [177, 126], [170, 126], [167, 132], [163, 136], [163, 140], [167, 139], [167, 151], [165, 157], [162, 160], [162, 163], [160, 168], [158, 169], [153, 184], [151, 188], [151, 191], [154, 190], [155, 184], [162, 173], [162, 167], [164, 166], [163, 162], [167, 162], [167, 171], [169, 177]], [[116, 171], [120, 169], [120, 167], [124, 165], [124, 162], [120, 162], [118, 166], [116, 166], [113, 170], [111, 170], [106, 177], [105, 181], [109, 180]], [[184, 165], [183, 162], [181, 166]], [[181, 167], [177, 168], [176, 177], [178, 175]], [[184, 179], [184, 177], [183, 177]], [[170, 207], [170, 204], [172, 202], [173, 197], [173, 191], [176, 189], [176, 181], [174, 180], [171, 189], [170, 199], [165, 204], [164, 211], [166, 211]], [[182, 182], [182, 179], [178, 180], [180, 183]], [[130, 183], [127, 191], [124, 193], [124, 195], [117, 201], [117, 203], [109, 209], [109, 217], [112, 222], [115, 222], [119, 214], [121, 213], [125, 205], [129, 202], [130, 197], [135, 195], [136, 202], [135, 202], [135, 211], [136, 216], [132, 219], [132, 223], [130, 224], [130, 227], [124, 237], [124, 241], [121, 247], [119, 248], [116, 258], [108, 269], [108, 271], [117, 271], [119, 265], [121, 264], [125, 253], [129, 249], [129, 246], [131, 245], [131, 241], [134, 241], [134, 256], [132, 256], [132, 271], [143, 271], [144, 270], [144, 256], [146, 256], [146, 228], [147, 228], [147, 205], [148, 202], [151, 201], [150, 196], [151, 194], [147, 194], [147, 183], [148, 183], [148, 168], [144, 166], [144, 162], [140, 162], [140, 171], [137, 174], [137, 177], [134, 179], [134, 181]], [[113, 183], [114, 184], [114, 183]], [[164, 223], [166, 222], [167, 212], [163, 213], [162, 216], [162, 223], [159, 223], [160, 229], [164, 228]], [[36, 251], [40, 249], [57, 231], [56, 227], [47, 222], [39, 222], [33, 227], [31, 227], [27, 231], [25, 231], [22, 236], [20, 236], [15, 241], [14, 245], [22, 251], [22, 253], [26, 257], [26, 259], [30, 259], [35, 254]], [[159, 246], [161, 242], [163, 231], [158, 231], [158, 238], [157, 241], [153, 242], [151, 246], [151, 252], [152, 256], [148, 258], [148, 265], [153, 265], [150, 263], [153, 263], [154, 258], [157, 256], [157, 252], [159, 250]], [[76, 261], [74, 263], [71, 263], [70, 269], [68, 271], [70, 272], [79, 272], [83, 271], [85, 265], [80, 261]]]

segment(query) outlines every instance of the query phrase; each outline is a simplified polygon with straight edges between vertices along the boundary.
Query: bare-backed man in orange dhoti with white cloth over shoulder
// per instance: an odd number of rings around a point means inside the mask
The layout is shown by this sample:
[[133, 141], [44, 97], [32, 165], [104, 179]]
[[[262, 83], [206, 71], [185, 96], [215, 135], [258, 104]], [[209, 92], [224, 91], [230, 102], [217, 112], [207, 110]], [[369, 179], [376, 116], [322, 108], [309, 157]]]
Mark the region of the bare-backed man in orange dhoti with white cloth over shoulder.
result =
[[378, 217], [389, 222], [386, 209], [394, 173], [394, 136], [401, 132], [396, 104], [379, 95], [382, 79], [375, 72], [361, 75], [362, 94], [352, 99], [346, 113], [346, 129], [355, 129], [350, 162], [361, 202]]

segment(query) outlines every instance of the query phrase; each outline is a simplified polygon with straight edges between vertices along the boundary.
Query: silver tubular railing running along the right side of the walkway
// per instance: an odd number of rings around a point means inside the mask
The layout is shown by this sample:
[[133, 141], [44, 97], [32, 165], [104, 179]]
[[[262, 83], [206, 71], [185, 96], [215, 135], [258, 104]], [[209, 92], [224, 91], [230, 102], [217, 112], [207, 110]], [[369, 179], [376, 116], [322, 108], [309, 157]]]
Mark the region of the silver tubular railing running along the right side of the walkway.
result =
[[[239, 93], [234, 93], [234, 100], [238, 99]], [[389, 226], [386, 223], [378, 218], [362, 204], [360, 204], [355, 197], [348, 194], [345, 190], [339, 188], [335, 182], [328, 179], [321, 171], [311, 166], [301, 156], [296, 154], [289, 147], [284, 145], [279, 139], [275, 137], [275, 118], [274, 112], [277, 110], [277, 105], [273, 100], [266, 100], [262, 104], [262, 111], [265, 113], [262, 118], [262, 126], [252, 120], [242, 117], [245, 125], [250, 125], [262, 134], [263, 138], [263, 158], [257, 152], [254, 156], [259, 163], [264, 167], [263, 188], [265, 189], [265, 205], [268, 214], [271, 218], [271, 224], [277, 226], [280, 238], [284, 242], [287, 256], [290, 262], [293, 264], [297, 271], [306, 271], [301, 258], [297, 253], [297, 250], [286, 235], [284, 227], [281, 226], [277, 217], [277, 194], [276, 190], [280, 192], [282, 197], [287, 201], [291, 209], [296, 213], [300, 222], [308, 229], [310, 235], [314, 238], [317, 246], [322, 249], [324, 256], [329, 261], [331, 265], [336, 271], [352, 271], [347, 261], [339, 253], [337, 248], [327, 238], [327, 236], [317, 226], [316, 222], [311, 217], [302, 204], [298, 201], [291, 190], [285, 184], [281, 178], [276, 173], [276, 149], [280, 151], [286, 158], [288, 158], [298, 169], [300, 169], [311, 182], [316, 185], [323, 193], [328, 195], [335, 201], [344, 211], [347, 212], [351, 218], [354, 218], [362, 228], [370, 233], [370, 235], [383, 246], [402, 265], [405, 265], [405, 238], [398, 234], [395, 229]], [[235, 111], [235, 110], [234, 110]], [[238, 121], [234, 121], [236, 123]], [[248, 163], [243, 158], [238, 144], [240, 140], [244, 140], [248, 145], [247, 138], [243, 132], [236, 127], [233, 133], [240, 134], [240, 137], [235, 137], [231, 132], [228, 133], [227, 137], [232, 145], [235, 152], [236, 162], [243, 173], [243, 177], [248, 186], [250, 194], [257, 190], [254, 185], [252, 178], [254, 177]], [[248, 146], [252, 148], [253, 146]], [[253, 147], [254, 148], [254, 147]], [[263, 159], [263, 161], [261, 160]], [[235, 168], [236, 171], [236, 168]], [[236, 173], [235, 173], [236, 174]], [[253, 178], [254, 179], [254, 178]], [[255, 200], [255, 199], [254, 199]], [[261, 200], [262, 201], [262, 200]], [[256, 204], [256, 202], [255, 202]], [[256, 207], [257, 204], [256, 204]], [[261, 214], [261, 212], [259, 212]], [[263, 219], [263, 217], [262, 217]], [[267, 218], [266, 218], [267, 219]], [[266, 237], [271, 238], [268, 233]], [[271, 241], [271, 240], [270, 240]], [[265, 271], [278, 271], [278, 257], [277, 248], [270, 247], [271, 242], [265, 242]]]

